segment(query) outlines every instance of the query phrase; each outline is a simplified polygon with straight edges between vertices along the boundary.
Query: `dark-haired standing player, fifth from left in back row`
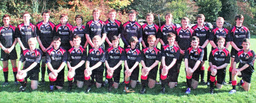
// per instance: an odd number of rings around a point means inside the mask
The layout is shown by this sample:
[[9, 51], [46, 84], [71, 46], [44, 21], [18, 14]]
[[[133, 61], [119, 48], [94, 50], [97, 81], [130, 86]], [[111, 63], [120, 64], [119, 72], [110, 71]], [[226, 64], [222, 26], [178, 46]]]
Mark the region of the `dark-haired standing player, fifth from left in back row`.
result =
[[[73, 41], [74, 35], [79, 35], [81, 37], [81, 46], [84, 48], [87, 47], [88, 41], [86, 40], [86, 35], [85, 35], [85, 26], [82, 24], [83, 17], [78, 14], [75, 17], [76, 20], [76, 26], [72, 28], [71, 34], [70, 34], [70, 40]], [[73, 47], [73, 45], [71, 45]]]

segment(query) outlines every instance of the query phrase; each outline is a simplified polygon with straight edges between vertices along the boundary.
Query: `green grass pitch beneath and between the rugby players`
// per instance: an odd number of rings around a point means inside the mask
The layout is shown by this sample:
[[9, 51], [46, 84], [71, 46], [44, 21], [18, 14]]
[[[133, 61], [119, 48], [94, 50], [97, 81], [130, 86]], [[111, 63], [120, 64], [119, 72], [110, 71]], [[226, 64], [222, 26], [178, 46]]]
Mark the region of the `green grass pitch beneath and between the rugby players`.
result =
[[[256, 36], [252, 36], [250, 43], [250, 49], [256, 51]], [[123, 43], [120, 43], [121, 45]], [[210, 44], [207, 46], [208, 56], [210, 52]], [[231, 49], [231, 46], [229, 50]], [[20, 53], [20, 47], [16, 46], [17, 54]], [[20, 57], [18, 56], [18, 59]], [[207, 79], [207, 68], [208, 61], [206, 61], [206, 71], [205, 80]], [[0, 63], [1, 66], [2, 62]], [[228, 68], [230, 65], [228, 66]], [[18, 93], [20, 86], [14, 85], [14, 77], [12, 74], [12, 66], [9, 63], [9, 85], [2, 87], [4, 82], [3, 72], [0, 72], [0, 102], [256, 102], [256, 76], [253, 73], [251, 88], [249, 92], [245, 92], [241, 86], [237, 86], [236, 94], [228, 94], [232, 89], [231, 85], [223, 86], [222, 89], [215, 89], [214, 94], [209, 94], [209, 87], [199, 84], [198, 88], [191, 91], [191, 94], [185, 94], [186, 86], [186, 75], [184, 72], [184, 63], [182, 62], [180, 68], [180, 75], [178, 78], [178, 86], [174, 89], [166, 88], [166, 94], [160, 94], [160, 85], [156, 85], [153, 89], [146, 88], [145, 94], [140, 94], [141, 85], [137, 85], [134, 89], [134, 93], [123, 92], [124, 85], [119, 85], [118, 89], [113, 89], [112, 92], [108, 92], [108, 85], [97, 89], [93, 86], [90, 93], [84, 93], [86, 86], [79, 89], [73, 86], [72, 92], [66, 92], [67, 90], [67, 76], [65, 76], [64, 89], [55, 90], [54, 92], [49, 91], [49, 80], [46, 73], [46, 85], [38, 87], [37, 90], [32, 91], [30, 88], [30, 80], [28, 79], [28, 88], [25, 92]], [[256, 68], [256, 65], [254, 65]], [[67, 75], [67, 66], [65, 69], [65, 75]], [[41, 73], [39, 74], [39, 80], [41, 78]], [[123, 75], [121, 73], [120, 82], [123, 80]], [[139, 77], [140, 80], [140, 77]], [[159, 80], [159, 75], [157, 75], [157, 81]], [[229, 80], [229, 73], [227, 69], [226, 82]], [[240, 78], [238, 79], [238, 81]], [[167, 87], [167, 86], [166, 86]]]

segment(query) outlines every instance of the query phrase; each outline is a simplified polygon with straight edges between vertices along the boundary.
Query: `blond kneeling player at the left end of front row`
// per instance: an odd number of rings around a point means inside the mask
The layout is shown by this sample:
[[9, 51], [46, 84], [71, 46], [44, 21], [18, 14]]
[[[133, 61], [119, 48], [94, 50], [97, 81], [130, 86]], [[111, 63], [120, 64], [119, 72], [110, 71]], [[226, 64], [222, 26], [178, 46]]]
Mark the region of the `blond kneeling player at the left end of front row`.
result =
[[[23, 92], [26, 89], [27, 78], [31, 80], [31, 89], [35, 90], [38, 88], [38, 79], [40, 72], [40, 62], [42, 51], [36, 49], [37, 40], [35, 38], [30, 38], [28, 40], [29, 49], [25, 49], [21, 54], [20, 61], [18, 63], [18, 74], [17, 80], [20, 82], [20, 91]], [[25, 61], [23, 69], [20, 70], [22, 62]], [[25, 80], [24, 80], [25, 79]]]

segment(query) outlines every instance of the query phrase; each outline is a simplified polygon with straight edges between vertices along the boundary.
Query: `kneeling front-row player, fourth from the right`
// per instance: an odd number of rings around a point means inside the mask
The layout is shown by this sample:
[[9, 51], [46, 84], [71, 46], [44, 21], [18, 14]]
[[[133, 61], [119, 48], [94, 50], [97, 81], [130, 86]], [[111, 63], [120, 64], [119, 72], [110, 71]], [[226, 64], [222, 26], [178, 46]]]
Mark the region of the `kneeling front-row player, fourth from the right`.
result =
[[168, 44], [163, 46], [162, 50], [162, 65], [160, 79], [162, 81], [161, 93], [165, 93], [165, 85], [169, 84], [170, 88], [175, 87], [175, 82], [178, 77], [176, 61], [180, 57], [180, 49], [175, 46], [175, 34], [170, 33], [167, 35]]

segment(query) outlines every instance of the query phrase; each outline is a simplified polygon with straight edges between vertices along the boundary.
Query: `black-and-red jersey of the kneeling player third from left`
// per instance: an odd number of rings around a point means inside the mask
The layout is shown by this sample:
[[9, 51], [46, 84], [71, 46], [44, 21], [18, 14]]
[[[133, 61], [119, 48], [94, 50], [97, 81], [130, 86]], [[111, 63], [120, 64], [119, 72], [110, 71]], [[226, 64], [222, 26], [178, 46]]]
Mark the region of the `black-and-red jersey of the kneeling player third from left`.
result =
[[[79, 49], [75, 49], [75, 47], [72, 47], [68, 50], [67, 53], [67, 60], [70, 62], [70, 65], [72, 67], [79, 64], [82, 60], [86, 61], [87, 58], [87, 51], [84, 49], [83, 46], [80, 46]], [[79, 67], [79, 69], [85, 69], [85, 63]], [[78, 69], [77, 69], [78, 70]]]

